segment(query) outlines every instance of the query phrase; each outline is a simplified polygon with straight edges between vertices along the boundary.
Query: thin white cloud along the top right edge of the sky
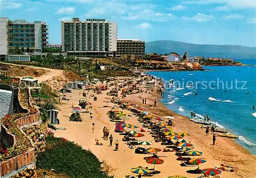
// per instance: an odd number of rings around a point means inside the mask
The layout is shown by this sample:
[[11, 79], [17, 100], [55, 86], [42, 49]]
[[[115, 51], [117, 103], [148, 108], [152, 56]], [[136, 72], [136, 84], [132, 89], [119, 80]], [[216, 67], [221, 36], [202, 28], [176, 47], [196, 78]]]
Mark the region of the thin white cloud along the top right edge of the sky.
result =
[[233, 9], [256, 9], [256, 1], [255, 0], [199, 0], [199, 1], [184, 1], [184, 4], [198, 4], [198, 5], [206, 5], [206, 4], [224, 4], [227, 6], [226, 8]]

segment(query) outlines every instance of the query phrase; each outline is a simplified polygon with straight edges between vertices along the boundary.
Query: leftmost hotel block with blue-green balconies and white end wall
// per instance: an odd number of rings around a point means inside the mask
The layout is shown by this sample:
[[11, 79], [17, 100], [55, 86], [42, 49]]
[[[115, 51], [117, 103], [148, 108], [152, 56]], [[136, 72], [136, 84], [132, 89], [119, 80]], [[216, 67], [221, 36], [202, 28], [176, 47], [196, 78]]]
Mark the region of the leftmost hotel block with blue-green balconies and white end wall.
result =
[[23, 53], [41, 52], [48, 44], [48, 26], [43, 21], [0, 18], [0, 55], [13, 54], [19, 47]]

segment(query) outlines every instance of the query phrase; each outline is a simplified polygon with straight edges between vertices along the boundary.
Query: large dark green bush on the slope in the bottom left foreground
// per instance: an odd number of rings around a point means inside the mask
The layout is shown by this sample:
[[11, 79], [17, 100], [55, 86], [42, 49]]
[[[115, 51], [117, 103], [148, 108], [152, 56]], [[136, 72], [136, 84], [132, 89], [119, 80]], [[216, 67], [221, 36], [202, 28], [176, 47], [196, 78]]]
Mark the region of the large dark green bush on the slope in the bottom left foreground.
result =
[[46, 138], [46, 151], [37, 157], [36, 167], [55, 169], [71, 177], [109, 178], [102, 171], [102, 163], [91, 151], [82, 149], [74, 142], [49, 136]]

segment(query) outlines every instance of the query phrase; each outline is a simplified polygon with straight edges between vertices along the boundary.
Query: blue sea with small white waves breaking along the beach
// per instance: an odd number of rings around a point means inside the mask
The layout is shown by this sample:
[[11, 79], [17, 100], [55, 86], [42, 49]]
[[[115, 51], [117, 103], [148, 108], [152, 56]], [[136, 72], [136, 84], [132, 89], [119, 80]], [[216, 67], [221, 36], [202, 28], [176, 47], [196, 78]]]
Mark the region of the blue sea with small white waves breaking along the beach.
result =
[[[208, 114], [210, 121], [238, 135], [236, 142], [256, 154], [256, 108], [252, 110], [252, 106], [256, 107], [256, 60], [238, 61], [252, 66], [203, 66], [209, 71], [152, 71], [149, 74], [164, 81], [174, 79], [174, 85], [169, 88], [165, 84], [161, 100], [169, 109], [185, 116], [196, 111], [197, 118]], [[186, 84], [188, 81], [193, 84]], [[200, 83], [196, 87], [196, 82], [202, 81], [208, 86]]]

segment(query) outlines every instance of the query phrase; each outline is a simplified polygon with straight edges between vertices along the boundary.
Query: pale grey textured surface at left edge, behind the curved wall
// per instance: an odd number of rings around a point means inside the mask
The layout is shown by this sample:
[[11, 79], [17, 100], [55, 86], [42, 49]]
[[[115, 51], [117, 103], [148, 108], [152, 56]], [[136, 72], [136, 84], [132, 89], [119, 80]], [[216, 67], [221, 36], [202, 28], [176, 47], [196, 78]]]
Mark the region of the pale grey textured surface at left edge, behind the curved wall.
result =
[[0, 89], [0, 118], [9, 112], [12, 92]]

